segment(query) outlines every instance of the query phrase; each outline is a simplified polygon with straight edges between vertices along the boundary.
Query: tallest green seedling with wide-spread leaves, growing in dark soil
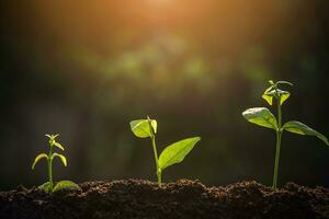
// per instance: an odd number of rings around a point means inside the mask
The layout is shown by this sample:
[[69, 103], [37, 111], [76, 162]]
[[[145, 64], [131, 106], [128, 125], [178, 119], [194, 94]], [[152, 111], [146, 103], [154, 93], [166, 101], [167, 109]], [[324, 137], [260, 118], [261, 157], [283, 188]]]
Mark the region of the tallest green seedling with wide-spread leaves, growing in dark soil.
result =
[[266, 107], [254, 107], [249, 108], [242, 113], [243, 117], [253, 124], [263, 126], [266, 128], [272, 128], [276, 132], [276, 152], [275, 152], [275, 164], [274, 164], [274, 175], [273, 175], [273, 188], [277, 187], [277, 173], [279, 173], [279, 160], [280, 160], [280, 148], [281, 139], [284, 130], [290, 132], [316, 136], [321, 139], [327, 146], [329, 146], [328, 139], [322, 134], [314, 130], [307, 125], [297, 122], [291, 120], [282, 125], [282, 105], [290, 97], [291, 93], [279, 89], [279, 85], [293, 85], [287, 81], [269, 81], [270, 87], [264, 91], [262, 97], [270, 104], [273, 104], [273, 99], [276, 101], [277, 107], [277, 119], [276, 117], [266, 108]]

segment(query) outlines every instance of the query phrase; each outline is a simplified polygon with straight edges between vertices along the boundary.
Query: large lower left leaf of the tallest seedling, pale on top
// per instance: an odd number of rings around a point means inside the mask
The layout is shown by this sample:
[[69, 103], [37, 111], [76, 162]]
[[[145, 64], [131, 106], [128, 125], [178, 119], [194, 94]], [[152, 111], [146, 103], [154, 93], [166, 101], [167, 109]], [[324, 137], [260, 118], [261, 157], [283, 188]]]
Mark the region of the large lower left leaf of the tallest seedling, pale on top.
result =
[[250, 123], [277, 130], [275, 116], [265, 107], [248, 108], [242, 116]]

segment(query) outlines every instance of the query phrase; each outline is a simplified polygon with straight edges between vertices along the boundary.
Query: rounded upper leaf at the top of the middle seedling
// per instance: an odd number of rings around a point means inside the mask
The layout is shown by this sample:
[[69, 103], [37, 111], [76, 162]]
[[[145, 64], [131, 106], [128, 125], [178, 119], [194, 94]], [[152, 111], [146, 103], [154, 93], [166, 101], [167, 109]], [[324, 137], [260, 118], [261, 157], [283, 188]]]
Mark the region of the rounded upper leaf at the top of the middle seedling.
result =
[[[157, 132], [157, 120], [150, 119], [151, 127]], [[135, 134], [135, 136], [139, 138], [147, 138], [151, 137], [152, 130], [149, 127], [149, 120], [148, 119], [138, 119], [138, 120], [132, 120], [131, 122], [131, 128], [132, 131]]]

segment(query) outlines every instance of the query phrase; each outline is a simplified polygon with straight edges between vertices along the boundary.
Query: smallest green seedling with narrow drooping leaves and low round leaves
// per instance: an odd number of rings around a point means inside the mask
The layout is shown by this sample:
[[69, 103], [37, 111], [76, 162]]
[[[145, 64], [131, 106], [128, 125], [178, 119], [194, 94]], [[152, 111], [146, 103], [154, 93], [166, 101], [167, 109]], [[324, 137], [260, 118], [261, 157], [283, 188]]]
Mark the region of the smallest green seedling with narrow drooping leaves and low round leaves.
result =
[[63, 164], [65, 166], [67, 166], [67, 160], [65, 158], [65, 155], [59, 154], [54, 152], [54, 147], [64, 150], [64, 147], [56, 141], [56, 138], [59, 135], [46, 135], [46, 137], [49, 138], [49, 152], [48, 154], [46, 153], [41, 153], [38, 154], [35, 159], [34, 162], [32, 164], [32, 170], [34, 170], [35, 164], [43, 158], [45, 158], [47, 160], [47, 165], [48, 165], [48, 182], [44, 183], [43, 185], [38, 186], [38, 188], [47, 192], [47, 193], [53, 193], [53, 192], [57, 192], [64, 188], [71, 188], [71, 189], [80, 189], [79, 185], [77, 185], [76, 183], [71, 182], [71, 181], [60, 181], [58, 182], [55, 186], [54, 186], [54, 182], [53, 182], [53, 160], [54, 158], [59, 158], [63, 162]]

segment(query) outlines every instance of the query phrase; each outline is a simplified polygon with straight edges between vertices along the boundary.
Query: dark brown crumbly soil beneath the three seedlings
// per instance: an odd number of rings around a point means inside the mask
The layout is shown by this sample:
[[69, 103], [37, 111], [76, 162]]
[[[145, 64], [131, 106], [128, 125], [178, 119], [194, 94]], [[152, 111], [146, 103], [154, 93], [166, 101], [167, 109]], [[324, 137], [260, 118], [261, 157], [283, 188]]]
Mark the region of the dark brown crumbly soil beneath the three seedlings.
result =
[[37, 188], [0, 193], [0, 218], [329, 218], [329, 189], [293, 183], [274, 192], [256, 182], [206, 187], [178, 181], [87, 182], [82, 191], [46, 194]]

